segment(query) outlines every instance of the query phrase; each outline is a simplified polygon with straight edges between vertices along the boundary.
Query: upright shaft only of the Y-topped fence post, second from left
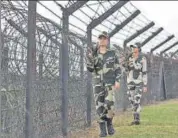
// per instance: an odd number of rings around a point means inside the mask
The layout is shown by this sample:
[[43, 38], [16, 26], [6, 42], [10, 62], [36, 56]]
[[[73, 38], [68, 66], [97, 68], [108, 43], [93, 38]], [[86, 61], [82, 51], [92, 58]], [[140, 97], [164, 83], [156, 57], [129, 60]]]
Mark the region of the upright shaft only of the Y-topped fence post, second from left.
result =
[[60, 50], [60, 76], [61, 76], [61, 101], [62, 101], [62, 133], [67, 136], [68, 127], [68, 79], [69, 79], [69, 51], [68, 51], [68, 34], [69, 34], [69, 16], [63, 10], [62, 24], [62, 46]]

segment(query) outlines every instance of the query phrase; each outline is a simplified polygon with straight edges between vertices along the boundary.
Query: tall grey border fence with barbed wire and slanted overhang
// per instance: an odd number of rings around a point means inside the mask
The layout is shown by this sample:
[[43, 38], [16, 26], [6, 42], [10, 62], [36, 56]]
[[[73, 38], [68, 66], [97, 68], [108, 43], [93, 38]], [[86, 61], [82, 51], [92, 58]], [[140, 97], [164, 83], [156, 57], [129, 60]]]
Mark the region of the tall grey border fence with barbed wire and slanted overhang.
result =
[[[0, 1], [0, 137], [57, 138], [95, 119], [85, 53], [106, 30], [121, 56], [141, 42], [144, 104], [178, 97], [178, 41], [130, 1]], [[128, 108], [125, 76], [117, 110]]]

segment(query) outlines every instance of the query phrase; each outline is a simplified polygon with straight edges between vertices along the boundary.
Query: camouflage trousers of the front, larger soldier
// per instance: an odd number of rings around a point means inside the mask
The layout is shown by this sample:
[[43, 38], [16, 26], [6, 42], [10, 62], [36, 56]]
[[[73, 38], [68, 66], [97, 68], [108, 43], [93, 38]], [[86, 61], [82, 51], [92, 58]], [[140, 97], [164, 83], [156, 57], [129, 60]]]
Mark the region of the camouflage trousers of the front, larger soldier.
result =
[[104, 122], [114, 117], [114, 89], [112, 86], [95, 86], [94, 99], [98, 122]]

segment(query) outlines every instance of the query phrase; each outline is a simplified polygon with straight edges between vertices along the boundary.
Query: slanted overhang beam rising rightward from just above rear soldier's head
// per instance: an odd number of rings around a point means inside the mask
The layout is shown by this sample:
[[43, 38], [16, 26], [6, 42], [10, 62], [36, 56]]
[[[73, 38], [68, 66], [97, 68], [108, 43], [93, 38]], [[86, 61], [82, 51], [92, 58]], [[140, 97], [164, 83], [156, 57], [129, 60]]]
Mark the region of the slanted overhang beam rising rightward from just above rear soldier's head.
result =
[[124, 41], [124, 46], [126, 46], [127, 43], [129, 43], [130, 41], [135, 39], [137, 36], [141, 35], [143, 32], [147, 31], [148, 29], [150, 29], [154, 25], [155, 25], [154, 22], [150, 22], [148, 25], [146, 25], [145, 27], [143, 27], [140, 30], [138, 30], [136, 33], [134, 33], [133, 35], [131, 35], [129, 38], [127, 38]]

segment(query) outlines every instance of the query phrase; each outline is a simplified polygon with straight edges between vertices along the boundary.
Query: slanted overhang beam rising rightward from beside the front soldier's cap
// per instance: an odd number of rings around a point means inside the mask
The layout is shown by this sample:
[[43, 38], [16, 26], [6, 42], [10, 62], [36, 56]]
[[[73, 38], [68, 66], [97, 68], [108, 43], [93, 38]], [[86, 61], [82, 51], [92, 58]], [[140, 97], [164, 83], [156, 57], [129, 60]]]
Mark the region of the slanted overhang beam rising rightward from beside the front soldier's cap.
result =
[[119, 32], [122, 28], [124, 28], [129, 22], [131, 22], [135, 17], [140, 14], [140, 10], [136, 10], [132, 15], [130, 15], [125, 21], [121, 24], [116, 25], [116, 27], [109, 33], [109, 37], [114, 36], [117, 32]]

